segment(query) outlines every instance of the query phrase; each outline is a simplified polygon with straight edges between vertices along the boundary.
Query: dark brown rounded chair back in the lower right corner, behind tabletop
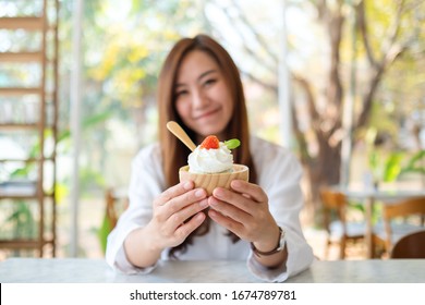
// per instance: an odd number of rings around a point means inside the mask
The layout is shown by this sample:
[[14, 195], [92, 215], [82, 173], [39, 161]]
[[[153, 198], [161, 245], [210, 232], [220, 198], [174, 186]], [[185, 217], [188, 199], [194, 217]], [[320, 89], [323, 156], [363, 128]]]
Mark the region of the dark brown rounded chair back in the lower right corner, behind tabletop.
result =
[[425, 230], [401, 237], [392, 247], [390, 258], [425, 258]]

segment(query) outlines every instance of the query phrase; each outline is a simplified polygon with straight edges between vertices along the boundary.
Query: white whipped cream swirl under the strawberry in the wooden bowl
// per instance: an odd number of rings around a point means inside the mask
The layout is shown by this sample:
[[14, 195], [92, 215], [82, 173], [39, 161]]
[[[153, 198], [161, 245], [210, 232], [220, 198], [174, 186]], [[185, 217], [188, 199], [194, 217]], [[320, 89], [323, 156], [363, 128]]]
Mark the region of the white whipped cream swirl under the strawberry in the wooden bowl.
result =
[[189, 155], [189, 171], [192, 173], [219, 173], [231, 171], [233, 166], [233, 155], [230, 149], [220, 142], [218, 149], [206, 149], [197, 146]]

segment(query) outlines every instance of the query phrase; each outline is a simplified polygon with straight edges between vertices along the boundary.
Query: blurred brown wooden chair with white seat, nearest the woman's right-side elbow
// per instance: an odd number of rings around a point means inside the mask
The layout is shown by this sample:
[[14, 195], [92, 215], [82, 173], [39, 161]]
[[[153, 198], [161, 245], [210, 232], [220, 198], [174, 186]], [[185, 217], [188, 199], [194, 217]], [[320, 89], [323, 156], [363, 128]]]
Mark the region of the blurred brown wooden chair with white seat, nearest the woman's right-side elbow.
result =
[[[344, 259], [347, 243], [363, 240], [366, 224], [347, 220], [348, 199], [344, 194], [321, 188], [319, 195], [324, 208], [324, 227], [328, 235], [325, 256], [328, 256], [331, 244], [339, 244], [339, 257]], [[331, 219], [332, 213], [336, 216], [335, 220]]]

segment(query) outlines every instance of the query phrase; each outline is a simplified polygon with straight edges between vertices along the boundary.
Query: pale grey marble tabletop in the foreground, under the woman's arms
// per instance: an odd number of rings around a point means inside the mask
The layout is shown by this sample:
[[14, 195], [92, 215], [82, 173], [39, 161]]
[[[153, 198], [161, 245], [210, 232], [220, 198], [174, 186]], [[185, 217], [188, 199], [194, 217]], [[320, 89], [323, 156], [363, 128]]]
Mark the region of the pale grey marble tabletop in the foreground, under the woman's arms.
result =
[[[102, 259], [10, 258], [0, 282], [37, 283], [250, 283], [262, 282], [245, 261], [161, 261], [149, 274], [122, 274]], [[289, 283], [425, 283], [425, 259], [316, 260]]]

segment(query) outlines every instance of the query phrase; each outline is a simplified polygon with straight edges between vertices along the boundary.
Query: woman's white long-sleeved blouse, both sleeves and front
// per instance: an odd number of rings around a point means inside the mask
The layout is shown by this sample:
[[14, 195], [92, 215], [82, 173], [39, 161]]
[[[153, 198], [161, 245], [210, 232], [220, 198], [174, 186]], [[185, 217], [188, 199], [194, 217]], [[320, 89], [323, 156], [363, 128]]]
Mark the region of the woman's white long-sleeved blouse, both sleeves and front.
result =
[[[286, 231], [286, 266], [278, 269], [262, 266], [254, 258], [248, 242], [240, 240], [232, 243], [226, 235], [227, 229], [214, 221], [210, 221], [206, 235], [194, 237], [187, 251], [177, 255], [180, 260], [246, 259], [248, 270], [257, 278], [282, 282], [308, 268], [314, 258], [300, 223], [300, 211], [304, 203], [300, 187], [302, 168], [289, 150], [257, 137], [251, 138], [251, 151], [257, 171], [257, 183], [268, 196], [269, 209], [276, 222]], [[155, 269], [156, 266], [133, 266], [126, 259], [123, 244], [131, 231], [150, 221], [153, 202], [165, 190], [160, 148], [158, 144], [153, 144], [143, 148], [133, 160], [130, 205], [108, 236], [106, 259], [112, 268], [124, 273], [147, 273]], [[169, 249], [165, 249], [161, 259], [169, 259], [168, 253]]]

